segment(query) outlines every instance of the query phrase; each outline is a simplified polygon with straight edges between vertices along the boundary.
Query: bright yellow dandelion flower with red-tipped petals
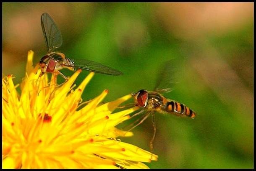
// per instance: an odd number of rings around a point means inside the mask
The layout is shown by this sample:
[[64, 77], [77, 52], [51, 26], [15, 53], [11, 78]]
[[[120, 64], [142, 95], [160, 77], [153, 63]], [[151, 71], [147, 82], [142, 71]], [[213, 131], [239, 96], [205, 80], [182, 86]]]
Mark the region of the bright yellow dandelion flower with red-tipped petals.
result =
[[112, 113], [131, 95], [102, 105], [108, 94], [104, 90], [78, 110], [94, 73], [76, 89], [72, 84], [81, 70], [56, 87], [55, 77], [39, 77], [33, 54], [28, 53], [21, 94], [11, 75], [2, 79], [3, 168], [148, 168], [142, 162], [157, 160], [157, 155], [116, 139], [133, 135], [115, 126], [138, 108]]

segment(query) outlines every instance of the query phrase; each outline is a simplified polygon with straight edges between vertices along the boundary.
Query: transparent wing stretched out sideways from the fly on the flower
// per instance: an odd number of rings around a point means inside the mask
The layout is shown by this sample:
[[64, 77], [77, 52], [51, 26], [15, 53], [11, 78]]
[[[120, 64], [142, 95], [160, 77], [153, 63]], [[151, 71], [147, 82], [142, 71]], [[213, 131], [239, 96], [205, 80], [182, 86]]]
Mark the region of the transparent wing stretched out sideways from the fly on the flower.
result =
[[[64, 64], [65, 65], [65, 64]], [[66, 66], [66, 65], [65, 65]], [[98, 62], [89, 61], [86, 59], [76, 59], [73, 61], [73, 66], [75, 68], [80, 68], [88, 71], [93, 71], [101, 74], [108, 74], [108, 75], [123, 75], [122, 72], [112, 69], [108, 66], [104, 66]]]

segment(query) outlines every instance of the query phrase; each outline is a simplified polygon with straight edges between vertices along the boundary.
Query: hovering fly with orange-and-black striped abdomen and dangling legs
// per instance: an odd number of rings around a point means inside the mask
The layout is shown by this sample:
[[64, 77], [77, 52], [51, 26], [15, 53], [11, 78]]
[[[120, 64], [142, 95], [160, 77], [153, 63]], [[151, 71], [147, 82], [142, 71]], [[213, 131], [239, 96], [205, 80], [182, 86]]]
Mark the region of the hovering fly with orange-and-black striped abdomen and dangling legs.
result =
[[144, 116], [138, 119], [140, 122], [138, 122], [138, 120], [135, 121], [135, 123], [138, 123], [128, 131], [140, 125], [149, 117], [149, 115], [152, 115], [154, 134], [150, 141], [151, 152], [153, 152], [153, 141], [156, 135], [155, 112], [190, 118], [194, 118], [196, 116], [196, 113], [183, 103], [167, 99], [162, 95], [165, 92], [170, 92], [171, 89], [169, 87], [171, 87], [171, 84], [175, 83], [172, 81], [172, 74], [174, 74], [173, 68], [171, 68], [172, 65], [172, 60], [165, 62], [162, 70], [159, 71], [154, 91], [141, 89], [136, 93], [131, 93], [134, 98], [135, 105], [141, 108], [141, 111], [137, 112], [132, 117], [141, 113], [143, 113]]

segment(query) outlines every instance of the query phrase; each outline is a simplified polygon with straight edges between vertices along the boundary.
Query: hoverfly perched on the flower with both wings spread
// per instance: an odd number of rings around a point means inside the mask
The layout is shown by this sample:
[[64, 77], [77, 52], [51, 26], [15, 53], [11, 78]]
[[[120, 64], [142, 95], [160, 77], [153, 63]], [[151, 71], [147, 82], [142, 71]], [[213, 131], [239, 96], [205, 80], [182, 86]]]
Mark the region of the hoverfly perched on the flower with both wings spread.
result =
[[62, 74], [59, 70], [63, 68], [68, 68], [72, 71], [75, 68], [84, 69], [88, 71], [93, 71], [101, 74], [108, 74], [108, 75], [122, 75], [123, 73], [112, 69], [108, 66], [104, 66], [94, 61], [89, 61], [85, 59], [77, 59], [72, 61], [69, 59], [65, 54], [60, 52], [55, 52], [56, 48], [59, 48], [62, 45], [62, 36], [60, 30], [58, 29], [57, 25], [55, 24], [52, 17], [47, 14], [43, 13], [41, 16], [41, 25], [42, 31], [44, 34], [44, 40], [47, 45], [47, 55], [43, 56], [40, 60], [39, 65], [41, 66], [41, 74], [40, 77], [48, 72], [53, 73], [57, 76], [60, 74], [64, 79], [68, 79], [64, 74]]

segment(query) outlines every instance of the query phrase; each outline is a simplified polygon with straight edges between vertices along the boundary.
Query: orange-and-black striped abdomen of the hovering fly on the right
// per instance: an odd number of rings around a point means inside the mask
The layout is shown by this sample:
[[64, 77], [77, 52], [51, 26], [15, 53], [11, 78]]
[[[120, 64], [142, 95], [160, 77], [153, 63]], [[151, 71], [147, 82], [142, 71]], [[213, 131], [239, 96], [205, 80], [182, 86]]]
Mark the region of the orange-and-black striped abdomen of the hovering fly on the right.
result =
[[178, 115], [178, 116], [188, 116], [194, 118], [196, 113], [190, 108], [186, 107], [184, 104], [175, 102], [174, 100], [168, 100], [166, 105], [163, 107], [168, 113]]

